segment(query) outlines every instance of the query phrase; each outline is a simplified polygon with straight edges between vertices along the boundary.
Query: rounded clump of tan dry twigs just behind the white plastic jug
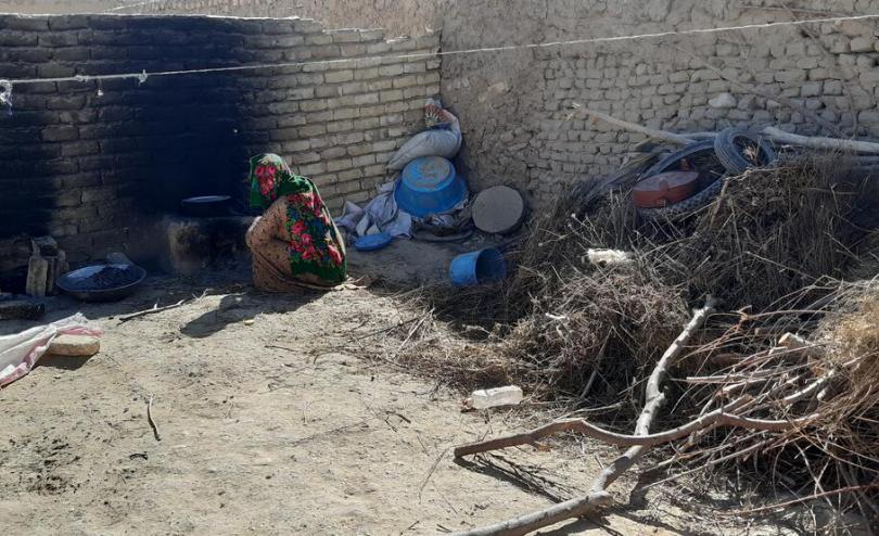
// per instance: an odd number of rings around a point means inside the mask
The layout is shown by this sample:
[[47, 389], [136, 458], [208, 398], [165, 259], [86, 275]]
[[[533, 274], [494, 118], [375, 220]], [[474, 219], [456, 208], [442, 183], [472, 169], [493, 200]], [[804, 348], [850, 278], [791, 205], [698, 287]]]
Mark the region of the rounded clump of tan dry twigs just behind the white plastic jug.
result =
[[604, 393], [616, 401], [674, 340], [686, 303], [649, 266], [581, 264], [531, 284], [530, 314], [495, 349], [538, 396], [583, 400]]

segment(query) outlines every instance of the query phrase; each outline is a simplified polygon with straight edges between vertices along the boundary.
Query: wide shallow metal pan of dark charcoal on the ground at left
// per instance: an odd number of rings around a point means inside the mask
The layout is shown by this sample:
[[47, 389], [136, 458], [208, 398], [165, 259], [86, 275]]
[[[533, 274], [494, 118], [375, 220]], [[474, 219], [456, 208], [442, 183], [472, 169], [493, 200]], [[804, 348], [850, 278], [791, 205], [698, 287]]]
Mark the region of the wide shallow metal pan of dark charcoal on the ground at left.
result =
[[129, 296], [146, 278], [135, 265], [94, 265], [67, 272], [58, 286], [84, 302], [115, 302]]

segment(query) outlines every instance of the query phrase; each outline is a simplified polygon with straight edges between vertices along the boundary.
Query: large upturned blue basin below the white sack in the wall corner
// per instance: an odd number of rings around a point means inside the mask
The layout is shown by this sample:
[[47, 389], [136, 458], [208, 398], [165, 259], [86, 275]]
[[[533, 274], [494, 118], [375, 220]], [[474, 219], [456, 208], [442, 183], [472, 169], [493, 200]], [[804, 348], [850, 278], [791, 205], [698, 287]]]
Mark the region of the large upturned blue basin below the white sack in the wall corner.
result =
[[410, 162], [394, 189], [403, 210], [418, 218], [451, 210], [467, 199], [467, 184], [455, 166], [442, 156], [423, 156]]

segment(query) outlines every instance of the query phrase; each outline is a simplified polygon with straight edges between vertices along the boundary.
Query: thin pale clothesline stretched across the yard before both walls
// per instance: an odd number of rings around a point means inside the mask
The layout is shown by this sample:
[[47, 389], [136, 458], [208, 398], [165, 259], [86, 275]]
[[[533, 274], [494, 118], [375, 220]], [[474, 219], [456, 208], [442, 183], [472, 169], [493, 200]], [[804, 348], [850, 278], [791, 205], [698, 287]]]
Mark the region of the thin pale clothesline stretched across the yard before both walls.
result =
[[313, 65], [337, 65], [337, 64], [345, 64], [345, 63], [356, 63], [362, 61], [375, 61], [375, 60], [423, 60], [430, 58], [442, 58], [442, 56], [454, 56], [454, 55], [466, 55], [466, 54], [479, 54], [479, 53], [488, 53], [488, 52], [508, 52], [513, 50], [533, 50], [533, 49], [548, 49], [548, 48], [556, 48], [556, 47], [564, 47], [571, 44], [590, 44], [590, 43], [608, 43], [608, 42], [621, 42], [621, 41], [634, 41], [640, 39], [657, 39], [663, 37], [674, 37], [674, 36], [692, 36], [692, 35], [706, 35], [706, 34], [718, 34], [718, 33], [727, 33], [727, 31], [743, 31], [750, 29], [766, 29], [766, 28], [775, 28], [781, 26], [803, 26], [806, 24], [827, 24], [827, 23], [838, 23], [838, 22], [846, 22], [846, 21], [867, 21], [872, 18], [879, 18], [879, 14], [868, 14], [868, 15], [851, 15], [851, 16], [835, 16], [835, 17], [824, 17], [824, 18], [808, 18], [802, 21], [781, 21], [781, 22], [774, 22], [774, 23], [759, 23], [759, 24], [747, 24], [742, 26], [723, 26], [716, 28], [696, 28], [696, 29], [686, 29], [680, 31], [659, 31], [654, 34], [639, 34], [634, 36], [614, 36], [614, 37], [593, 37], [593, 38], [585, 38], [585, 39], [573, 39], [568, 41], [545, 41], [538, 43], [526, 43], [526, 44], [505, 44], [500, 47], [485, 47], [479, 49], [462, 49], [462, 50], [447, 50], [447, 51], [436, 51], [436, 52], [420, 52], [420, 53], [410, 53], [410, 54], [399, 54], [399, 55], [375, 55], [375, 56], [364, 56], [364, 58], [342, 58], [336, 60], [315, 60], [315, 61], [307, 61], [307, 62], [283, 62], [283, 63], [262, 63], [262, 64], [253, 64], [253, 65], [234, 65], [229, 67], [209, 67], [209, 68], [200, 68], [200, 69], [183, 69], [183, 71], [158, 71], [155, 73], [146, 73], [142, 71], [141, 73], [125, 73], [125, 74], [116, 74], [116, 75], [75, 75], [75, 76], [66, 76], [66, 77], [59, 77], [59, 78], [22, 78], [22, 79], [9, 79], [9, 80], [0, 80], [3, 82], [10, 82], [13, 86], [23, 86], [29, 84], [51, 84], [51, 82], [65, 82], [65, 81], [80, 81], [87, 82], [91, 80], [120, 80], [120, 79], [137, 79], [140, 82], [145, 81], [148, 76], [176, 76], [176, 75], [190, 75], [190, 74], [204, 74], [204, 73], [232, 73], [232, 72], [240, 72], [240, 71], [258, 71], [258, 69], [267, 69], [267, 68], [283, 68], [283, 67], [306, 67]]

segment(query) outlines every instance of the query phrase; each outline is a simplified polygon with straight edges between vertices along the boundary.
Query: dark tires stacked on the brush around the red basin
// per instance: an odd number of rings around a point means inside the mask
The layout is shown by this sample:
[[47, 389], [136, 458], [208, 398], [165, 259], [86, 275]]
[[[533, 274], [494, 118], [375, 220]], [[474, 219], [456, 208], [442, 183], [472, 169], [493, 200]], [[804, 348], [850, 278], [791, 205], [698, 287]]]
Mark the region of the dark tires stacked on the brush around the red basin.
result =
[[[642, 179], [647, 179], [663, 173], [696, 167], [701, 174], [700, 190], [680, 202], [663, 207], [638, 207], [638, 213], [647, 219], [680, 218], [711, 203], [721, 193], [725, 177], [739, 176], [751, 168], [769, 166], [776, 158], [775, 151], [759, 135], [738, 128], [727, 128], [713, 140], [691, 143], [668, 154], [641, 175]], [[691, 164], [693, 161], [698, 161], [698, 164]]]

